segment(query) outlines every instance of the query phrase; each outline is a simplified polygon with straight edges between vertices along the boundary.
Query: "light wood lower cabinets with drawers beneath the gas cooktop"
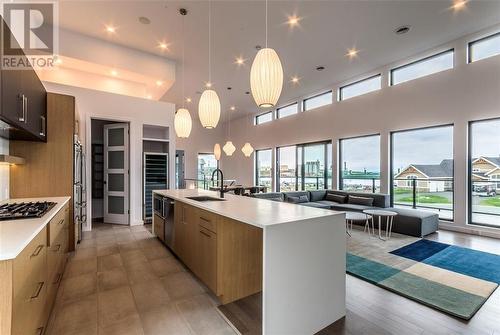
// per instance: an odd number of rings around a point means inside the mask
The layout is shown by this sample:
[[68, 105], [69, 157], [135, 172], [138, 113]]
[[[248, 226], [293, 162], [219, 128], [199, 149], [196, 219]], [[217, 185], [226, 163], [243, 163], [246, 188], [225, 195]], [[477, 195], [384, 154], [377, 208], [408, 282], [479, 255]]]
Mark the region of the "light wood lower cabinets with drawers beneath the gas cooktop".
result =
[[66, 205], [15, 259], [0, 261], [2, 335], [44, 333], [67, 260], [68, 212]]

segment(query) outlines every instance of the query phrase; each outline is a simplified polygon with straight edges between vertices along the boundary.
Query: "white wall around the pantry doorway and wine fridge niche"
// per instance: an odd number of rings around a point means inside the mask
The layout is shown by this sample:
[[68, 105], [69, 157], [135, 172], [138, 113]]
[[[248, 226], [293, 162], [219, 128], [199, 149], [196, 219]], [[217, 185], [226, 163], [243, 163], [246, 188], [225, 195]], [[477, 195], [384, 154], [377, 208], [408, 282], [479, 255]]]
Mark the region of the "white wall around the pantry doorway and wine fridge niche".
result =
[[[45, 82], [44, 85], [47, 92], [75, 97], [77, 113], [80, 116], [80, 129], [82, 130], [80, 140], [85, 147], [87, 157], [91, 157], [91, 146], [86, 145], [86, 139], [90, 144], [90, 120], [92, 118], [130, 123], [130, 224], [143, 224], [142, 127], [144, 124], [169, 127], [171, 129], [171, 150], [175, 150], [174, 104], [53, 83]], [[170, 155], [169, 167], [170, 187], [173, 188], [175, 185], [175, 155]], [[91, 199], [90, 171], [90, 159], [87, 159], [87, 199]], [[88, 202], [87, 206], [87, 217], [90, 218], [91, 202]], [[84, 229], [90, 229], [89, 224], [90, 222], [87, 222], [87, 227]]]

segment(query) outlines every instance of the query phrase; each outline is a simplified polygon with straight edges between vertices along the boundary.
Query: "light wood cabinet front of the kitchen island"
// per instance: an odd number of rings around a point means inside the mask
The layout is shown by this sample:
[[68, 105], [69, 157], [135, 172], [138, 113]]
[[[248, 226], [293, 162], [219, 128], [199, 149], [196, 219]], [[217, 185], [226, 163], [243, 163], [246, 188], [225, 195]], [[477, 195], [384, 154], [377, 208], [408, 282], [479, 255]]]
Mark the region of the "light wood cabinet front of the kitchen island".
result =
[[262, 290], [262, 229], [175, 202], [173, 251], [223, 304]]

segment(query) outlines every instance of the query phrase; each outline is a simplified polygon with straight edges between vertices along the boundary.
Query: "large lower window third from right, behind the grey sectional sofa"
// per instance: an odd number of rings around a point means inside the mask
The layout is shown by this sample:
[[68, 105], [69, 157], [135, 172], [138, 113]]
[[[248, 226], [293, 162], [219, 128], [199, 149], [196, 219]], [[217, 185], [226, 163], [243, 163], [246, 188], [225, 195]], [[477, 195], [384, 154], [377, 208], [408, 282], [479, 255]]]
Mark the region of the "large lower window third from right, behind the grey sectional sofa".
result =
[[380, 192], [380, 135], [340, 140], [340, 188]]

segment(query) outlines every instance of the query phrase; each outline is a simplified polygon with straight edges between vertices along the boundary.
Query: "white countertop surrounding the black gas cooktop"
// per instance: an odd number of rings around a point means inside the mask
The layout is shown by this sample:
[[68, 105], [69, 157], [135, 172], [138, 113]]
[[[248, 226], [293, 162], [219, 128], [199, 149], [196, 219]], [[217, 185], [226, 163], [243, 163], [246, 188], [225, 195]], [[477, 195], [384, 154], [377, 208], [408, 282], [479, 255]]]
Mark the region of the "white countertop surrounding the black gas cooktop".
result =
[[52, 220], [70, 197], [47, 197], [9, 199], [1, 204], [28, 201], [50, 201], [56, 205], [41, 218], [0, 221], [0, 261], [14, 259], [36, 237], [36, 235]]

